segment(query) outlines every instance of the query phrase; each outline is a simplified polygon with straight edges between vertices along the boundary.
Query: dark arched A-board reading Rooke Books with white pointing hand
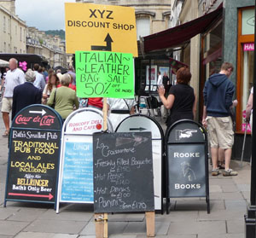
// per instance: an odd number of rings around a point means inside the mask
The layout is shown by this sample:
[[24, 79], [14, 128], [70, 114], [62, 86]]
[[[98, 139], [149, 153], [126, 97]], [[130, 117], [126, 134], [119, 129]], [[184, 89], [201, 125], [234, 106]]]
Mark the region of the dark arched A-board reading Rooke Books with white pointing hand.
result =
[[210, 212], [207, 132], [203, 127], [192, 120], [172, 125], [166, 133], [166, 161], [167, 196], [206, 197]]

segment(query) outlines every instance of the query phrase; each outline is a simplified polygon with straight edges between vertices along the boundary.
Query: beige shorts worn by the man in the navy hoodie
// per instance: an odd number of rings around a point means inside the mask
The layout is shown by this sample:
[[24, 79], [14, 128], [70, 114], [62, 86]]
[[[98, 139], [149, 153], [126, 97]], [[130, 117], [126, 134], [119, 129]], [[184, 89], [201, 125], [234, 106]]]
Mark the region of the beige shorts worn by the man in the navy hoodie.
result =
[[207, 129], [211, 148], [232, 148], [234, 131], [230, 117], [207, 117]]

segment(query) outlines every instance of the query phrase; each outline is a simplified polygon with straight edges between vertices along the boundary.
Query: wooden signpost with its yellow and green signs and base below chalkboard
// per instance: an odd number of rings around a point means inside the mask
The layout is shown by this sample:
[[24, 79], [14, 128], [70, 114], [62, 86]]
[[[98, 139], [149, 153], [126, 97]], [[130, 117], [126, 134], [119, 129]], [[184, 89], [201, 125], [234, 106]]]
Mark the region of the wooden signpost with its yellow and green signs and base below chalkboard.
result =
[[[67, 53], [76, 53], [79, 61], [79, 67], [76, 66], [78, 96], [103, 97], [103, 130], [107, 131], [106, 97], [134, 97], [131, 54], [137, 57], [135, 10], [113, 5], [65, 3], [65, 11]], [[95, 217], [96, 237], [108, 237], [108, 214], [97, 213]]]

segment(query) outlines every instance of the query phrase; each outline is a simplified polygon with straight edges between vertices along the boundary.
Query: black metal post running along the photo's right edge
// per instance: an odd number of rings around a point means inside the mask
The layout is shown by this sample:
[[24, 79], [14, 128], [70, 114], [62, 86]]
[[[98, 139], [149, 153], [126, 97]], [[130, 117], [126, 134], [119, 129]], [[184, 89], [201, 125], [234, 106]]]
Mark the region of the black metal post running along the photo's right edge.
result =
[[[254, 4], [254, 17], [256, 16], [256, 0]], [[256, 24], [254, 23], [254, 36], [256, 32]], [[254, 47], [256, 45], [256, 38], [254, 38]], [[240, 53], [238, 53], [240, 54]], [[253, 62], [253, 106], [256, 105], [256, 50], [254, 49], [254, 62]], [[247, 208], [247, 215], [245, 216], [246, 223], [246, 238], [255, 238], [256, 224], [255, 224], [255, 212], [256, 212], [256, 108], [253, 109], [253, 136], [252, 136], [252, 164], [251, 164], [251, 195], [250, 195], [250, 206]]]

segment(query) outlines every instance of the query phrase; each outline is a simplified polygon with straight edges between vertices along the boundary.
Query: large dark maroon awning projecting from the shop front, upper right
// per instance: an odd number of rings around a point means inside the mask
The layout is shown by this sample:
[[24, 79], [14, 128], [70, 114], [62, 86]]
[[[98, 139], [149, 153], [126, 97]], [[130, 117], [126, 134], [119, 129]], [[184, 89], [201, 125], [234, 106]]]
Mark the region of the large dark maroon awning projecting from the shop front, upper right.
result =
[[172, 27], [163, 32], [157, 32], [144, 37], [144, 51], [168, 49], [179, 46], [194, 38], [197, 34], [207, 31], [207, 28], [222, 17], [222, 5], [212, 13], [203, 15], [182, 25]]

